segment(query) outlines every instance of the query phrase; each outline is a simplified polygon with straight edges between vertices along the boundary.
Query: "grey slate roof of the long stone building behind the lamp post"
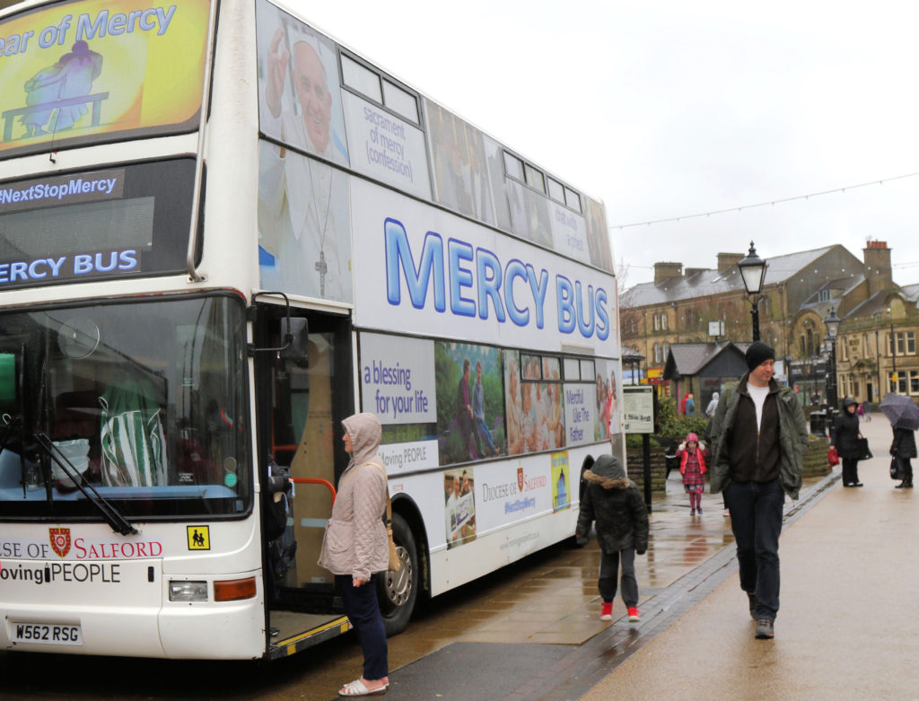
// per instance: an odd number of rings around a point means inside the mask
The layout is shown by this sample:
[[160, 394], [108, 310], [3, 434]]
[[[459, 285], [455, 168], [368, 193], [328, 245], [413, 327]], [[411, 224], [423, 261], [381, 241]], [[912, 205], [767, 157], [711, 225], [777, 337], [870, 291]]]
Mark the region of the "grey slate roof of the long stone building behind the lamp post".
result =
[[[837, 244], [834, 244], [837, 245]], [[777, 255], [766, 258], [766, 281], [764, 285], [777, 285], [800, 273], [805, 267], [826, 254], [834, 246], [823, 246], [812, 251]], [[692, 268], [696, 269], [696, 268]], [[689, 277], [671, 277], [660, 285], [643, 282], [627, 289], [622, 298], [625, 307], [643, 307], [676, 300], [723, 294], [743, 290], [743, 279], [737, 266], [728, 270], [699, 270]]]

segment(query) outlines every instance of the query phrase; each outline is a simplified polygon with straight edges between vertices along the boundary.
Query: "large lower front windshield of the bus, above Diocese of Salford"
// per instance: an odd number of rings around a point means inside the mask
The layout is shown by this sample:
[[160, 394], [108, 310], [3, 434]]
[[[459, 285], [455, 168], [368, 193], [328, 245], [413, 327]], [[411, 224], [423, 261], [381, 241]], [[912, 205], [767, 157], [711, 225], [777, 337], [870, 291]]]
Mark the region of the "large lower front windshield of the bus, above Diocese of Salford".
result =
[[251, 509], [242, 301], [9, 312], [0, 339], [0, 517]]

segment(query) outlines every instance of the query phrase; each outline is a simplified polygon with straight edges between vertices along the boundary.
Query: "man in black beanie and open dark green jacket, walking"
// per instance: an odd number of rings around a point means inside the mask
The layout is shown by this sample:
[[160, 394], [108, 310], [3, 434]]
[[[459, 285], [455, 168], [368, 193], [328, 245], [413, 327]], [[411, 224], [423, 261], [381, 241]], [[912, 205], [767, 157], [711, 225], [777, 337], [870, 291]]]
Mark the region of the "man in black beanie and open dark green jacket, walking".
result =
[[793, 390], [772, 379], [776, 354], [755, 341], [749, 372], [726, 388], [711, 422], [711, 491], [724, 492], [737, 544], [741, 588], [756, 638], [772, 639], [778, 612], [778, 536], [785, 494], [798, 498], [807, 424]]

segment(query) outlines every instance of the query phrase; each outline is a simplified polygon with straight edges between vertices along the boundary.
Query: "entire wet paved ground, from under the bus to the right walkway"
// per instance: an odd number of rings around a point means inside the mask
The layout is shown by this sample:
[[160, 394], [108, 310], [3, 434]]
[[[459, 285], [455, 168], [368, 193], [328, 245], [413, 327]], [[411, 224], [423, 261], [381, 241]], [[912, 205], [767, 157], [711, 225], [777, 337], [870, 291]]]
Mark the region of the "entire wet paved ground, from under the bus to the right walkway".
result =
[[[919, 699], [919, 495], [892, 489], [887, 421], [862, 429], [877, 456], [860, 463], [863, 488], [844, 489], [837, 468], [787, 500], [775, 640], [753, 637], [720, 495], [706, 493], [705, 513], [690, 516], [674, 471], [636, 560], [641, 622], [623, 616], [621, 598], [614, 620], [599, 620], [595, 537], [548, 548], [437, 597], [390, 639], [386, 698]], [[2, 695], [329, 701], [361, 664], [351, 635], [257, 668], [53, 658], [0, 656]]]

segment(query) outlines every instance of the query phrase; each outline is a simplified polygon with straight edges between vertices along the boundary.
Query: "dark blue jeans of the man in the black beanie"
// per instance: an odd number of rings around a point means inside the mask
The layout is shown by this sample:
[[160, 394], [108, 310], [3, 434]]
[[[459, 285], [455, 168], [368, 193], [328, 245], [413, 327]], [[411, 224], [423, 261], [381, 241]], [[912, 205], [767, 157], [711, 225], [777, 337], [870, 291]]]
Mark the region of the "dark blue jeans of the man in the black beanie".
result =
[[775, 620], [778, 613], [778, 535], [782, 532], [785, 492], [777, 480], [732, 481], [724, 489], [737, 543], [741, 589], [756, 594], [756, 618]]

